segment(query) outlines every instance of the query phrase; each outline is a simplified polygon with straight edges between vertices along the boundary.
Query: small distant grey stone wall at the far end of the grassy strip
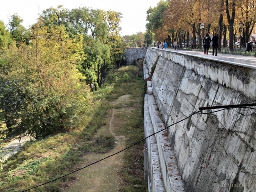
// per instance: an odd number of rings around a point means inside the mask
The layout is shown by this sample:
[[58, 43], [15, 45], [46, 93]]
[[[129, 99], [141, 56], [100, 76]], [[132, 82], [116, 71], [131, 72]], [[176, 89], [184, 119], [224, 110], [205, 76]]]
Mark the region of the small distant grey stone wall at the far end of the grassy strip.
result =
[[126, 64], [131, 65], [132, 61], [145, 58], [147, 48], [129, 48], [125, 50]]

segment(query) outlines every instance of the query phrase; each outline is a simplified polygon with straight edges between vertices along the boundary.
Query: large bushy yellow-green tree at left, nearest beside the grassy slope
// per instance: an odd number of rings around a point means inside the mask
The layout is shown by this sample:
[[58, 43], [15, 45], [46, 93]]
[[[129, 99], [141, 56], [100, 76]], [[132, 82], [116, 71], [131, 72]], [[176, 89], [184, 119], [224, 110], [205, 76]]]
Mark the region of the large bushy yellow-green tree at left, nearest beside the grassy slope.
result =
[[82, 36], [71, 39], [63, 26], [44, 26], [41, 21], [31, 35], [29, 45], [12, 45], [1, 55], [0, 79], [22, 98], [17, 109], [20, 132], [37, 138], [75, 126], [91, 96], [77, 70], [84, 60]]

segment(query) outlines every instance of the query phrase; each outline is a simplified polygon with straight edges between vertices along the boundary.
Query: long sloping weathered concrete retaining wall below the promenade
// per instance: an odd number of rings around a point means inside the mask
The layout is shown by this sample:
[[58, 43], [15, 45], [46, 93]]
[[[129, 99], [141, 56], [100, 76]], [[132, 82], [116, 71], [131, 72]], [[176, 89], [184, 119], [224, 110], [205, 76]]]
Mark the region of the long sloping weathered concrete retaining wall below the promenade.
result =
[[[158, 55], [152, 88], [166, 126], [198, 107], [255, 102], [255, 69], [148, 48], [149, 72]], [[168, 128], [186, 191], [255, 191], [255, 113], [249, 108], [198, 113]]]

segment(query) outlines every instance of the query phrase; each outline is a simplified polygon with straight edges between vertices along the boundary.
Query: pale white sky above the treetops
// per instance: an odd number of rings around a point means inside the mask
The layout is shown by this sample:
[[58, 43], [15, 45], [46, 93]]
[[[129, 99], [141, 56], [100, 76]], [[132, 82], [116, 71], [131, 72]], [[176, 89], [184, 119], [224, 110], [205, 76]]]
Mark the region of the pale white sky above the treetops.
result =
[[63, 5], [66, 9], [90, 7], [104, 11], [121, 12], [121, 35], [132, 35], [146, 31], [147, 10], [157, 6], [160, 0], [0, 0], [0, 20], [6, 25], [8, 19], [17, 13], [23, 19], [22, 25], [28, 28], [36, 23], [38, 14], [50, 7]]

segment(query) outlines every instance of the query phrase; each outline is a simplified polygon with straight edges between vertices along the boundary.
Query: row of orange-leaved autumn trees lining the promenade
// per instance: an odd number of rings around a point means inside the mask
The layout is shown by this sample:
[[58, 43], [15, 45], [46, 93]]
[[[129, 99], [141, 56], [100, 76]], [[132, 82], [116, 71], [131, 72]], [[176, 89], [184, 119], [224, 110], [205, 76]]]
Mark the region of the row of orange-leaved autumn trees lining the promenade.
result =
[[[163, 4], [166, 2], [168, 6], [163, 9]], [[228, 36], [229, 50], [233, 51], [233, 43], [239, 35], [240, 21], [243, 24], [240, 30], [244, 42], [249, 41], [255, 27], [256, 3], [252, 0], [167, 0], [166, 2], [160, 1], [156, 7], [150, 7], [147, 11], [147, 33], [155, 41], [168, 39], [170, 43], [171, 35], [172, 40], [179, 39], [181, 43], [184, 42], [185, 33], [188, 39], [189, 33], [192, 32], [194, 44], [198, 38], [201, 47], [200, 25], [204, 23], [205, 32], [210, 35], [217, 32], [221, 36], [219, 49], [222, 43], [226, 47], [226, 36]], [[183, 39], [180, 38], [181, 29], [184, 31]]]

